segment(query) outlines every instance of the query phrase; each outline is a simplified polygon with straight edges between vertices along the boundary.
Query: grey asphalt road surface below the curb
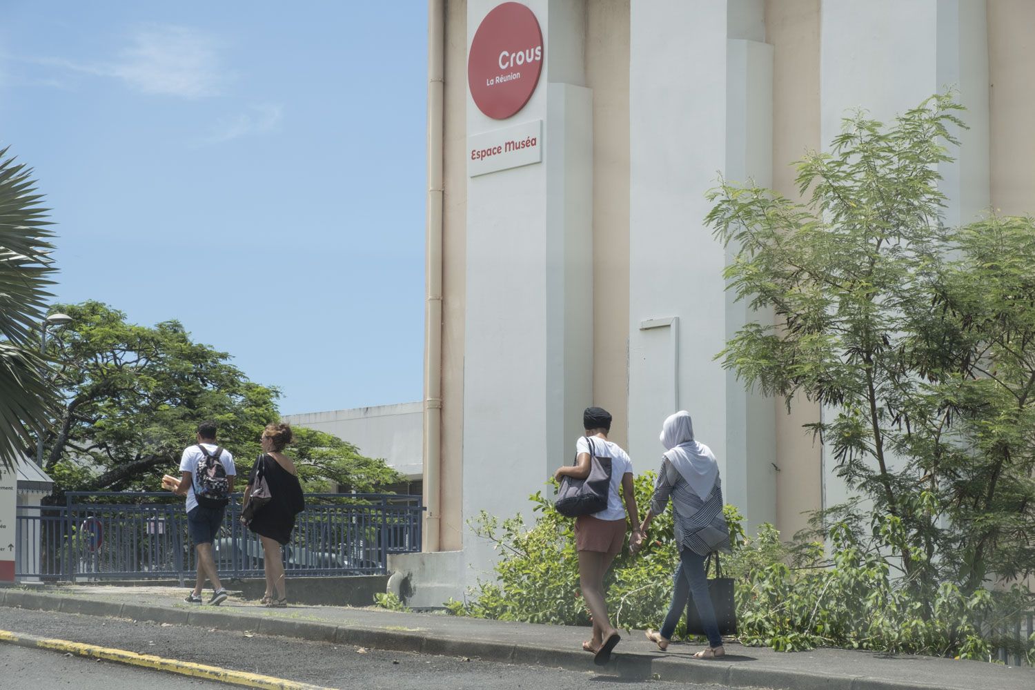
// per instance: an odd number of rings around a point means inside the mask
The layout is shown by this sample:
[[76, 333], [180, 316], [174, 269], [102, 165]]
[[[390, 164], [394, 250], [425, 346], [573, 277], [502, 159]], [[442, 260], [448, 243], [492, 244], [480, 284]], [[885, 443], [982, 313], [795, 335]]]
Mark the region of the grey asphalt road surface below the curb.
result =
[[[587, 670], [578, 672], [3, 607], [0, 607], [0, 629], [153, 654], [331, 688], [539, 690], [542, 687], [557, 687], [565, 690], [602, 690], [613, 683], [627, 688], [651, 690], [704, 690], [706, 687], [657, 681], [630, 683], [624, 679], [603, 676], [593, 670], [589, 655], [586, 657]], [[148, 690], [195, 690], [229, 686], [201, 683], [188, 678], [129, 668], [106, 661], [64, 657], [57, 652], [24, 650], [0, 642], [0, 688], [50, 690], [62, 687], [73, 687], [77, 690], [138, 690], [141, 687]], [[719, 686], [707, 688], [723, 690]]]

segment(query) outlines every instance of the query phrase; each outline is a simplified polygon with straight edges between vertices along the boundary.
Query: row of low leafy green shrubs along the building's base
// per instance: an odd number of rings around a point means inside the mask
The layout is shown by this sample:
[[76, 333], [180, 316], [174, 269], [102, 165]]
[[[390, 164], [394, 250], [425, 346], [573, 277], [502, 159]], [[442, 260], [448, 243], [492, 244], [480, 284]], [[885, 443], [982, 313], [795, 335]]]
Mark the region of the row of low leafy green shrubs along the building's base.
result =
[[[635, 481], [637, 501], [648, 505], [654, 476]], [[530, 497], [535, 522], [519, 515], [499, 519], [482, 512], [472, 520], [479, 536], [500, 552], [495, 581], [479, 581], [464, 602], [446, 608], [457, 616], [556, 625], [589, 625], [579, 595], [579, 562], [573, 522], [560, 515], [541, 491]], [[742, 517], [726, 507], [733, 553], [723, 558], [723, 575], [736, 586], [739, 638], [744, 644], [793, 652], [816, 647], [880, 650], [992, 660], [1005, 638], [1003, 629], [1030, 610], [1031, 593], [978, 590], [968, 595], [941, 582], [918, 596], [887, 557], [900, 533], [897, 518], [875, 516], [871, 534], [860, 539], [858, 521], [839, 520], [821, 533], [827, 540], [780, 541], [771, 524], [748, 538]], [[613, 623], [626, 629], [659, 628], [672, 598], [678, 563], [672, 511], [657, 516], [645, 548], [624, 550], [608, 574], [608, 606]], [[829, 556], [828, 556], [829, 552]], [[1012, 618], [1011, 618], [1012, 617]], [[677, 637], [685, 636], [685, 621]], [[1016, 642], [1010, 642], [1016, 648]], [[1035, 662], [1035, 636], [1016, 651]]]

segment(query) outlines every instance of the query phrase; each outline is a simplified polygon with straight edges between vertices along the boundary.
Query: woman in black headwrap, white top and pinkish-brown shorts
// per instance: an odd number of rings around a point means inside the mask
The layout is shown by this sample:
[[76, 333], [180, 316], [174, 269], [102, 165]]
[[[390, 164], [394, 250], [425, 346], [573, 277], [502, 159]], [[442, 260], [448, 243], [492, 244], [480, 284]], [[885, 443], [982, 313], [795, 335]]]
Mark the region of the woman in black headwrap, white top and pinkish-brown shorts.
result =
[[[643, 531], [640, 529], [637, 499], [632, 490], [632, 460], [618, 444], [608, 440], [611, 414], [602, 408], [587, 408], [583, 413], [583, 428], [586, 429], [586, 436], [575, 442], [575, 463], [560, 468], [554, 473], [554, 479], [561, 481], [565, 476], [585, 479], [590, 473], [591, 455], [611, 458], [608, 507], [598, 513], [575, 518], [579, 581], [583, 599], [593, 617], [593, 637], [583, 642], [583, 649], [592, 652], [594, 663], [602, 666], [611, 659], [611, 651], [615, 649], [615, 644], [621, 640], [608, 618], [603, 576], [625, 543], [626, 512], [629, 523], [633, 526], [630, 544], [640, 545]], [[624, 509], [622, 496], [625, 497]]]

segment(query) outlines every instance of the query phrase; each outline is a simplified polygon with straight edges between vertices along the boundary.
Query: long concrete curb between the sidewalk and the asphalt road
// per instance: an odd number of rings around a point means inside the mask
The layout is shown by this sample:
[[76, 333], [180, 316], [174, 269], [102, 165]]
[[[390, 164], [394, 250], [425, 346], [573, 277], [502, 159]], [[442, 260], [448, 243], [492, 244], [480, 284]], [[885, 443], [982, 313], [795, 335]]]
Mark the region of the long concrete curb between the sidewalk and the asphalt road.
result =
[[[354, 644], [394, 652], [479, 658], [485, 661], [550, 666], [585, 671], [587, 655], [574, 650], [558, 650], [530, 643], [472, 640], [467, 637], [428, 637], [411, 630], [341, 626], [318, 621], [294, 621], [257, 618], [230, 611], [181, 610], [143, 604], [82, 599], [57, 594], [19, 590], [0, 590], [0, 605], [20, 606], [45, 611], [130, 618], [136, 621], [172, 623], [230, 631], [254, 631], [301, 639]], [[962, 687], [901, 682], [864, 676], [837, 676], [812, 671], [787, 670], [771, 666], [743, 665], [737, 662], [705, 661], [692, 664], [686, 672], [685, 659], [658, 657], [655, 654], [623, 652], [616, 654], [601, 670], [617, 672], [628, 680], [657, 679], [675, 683], [712, 683], [733, 688], [772, 688], [773, 690], [967, 690]]]

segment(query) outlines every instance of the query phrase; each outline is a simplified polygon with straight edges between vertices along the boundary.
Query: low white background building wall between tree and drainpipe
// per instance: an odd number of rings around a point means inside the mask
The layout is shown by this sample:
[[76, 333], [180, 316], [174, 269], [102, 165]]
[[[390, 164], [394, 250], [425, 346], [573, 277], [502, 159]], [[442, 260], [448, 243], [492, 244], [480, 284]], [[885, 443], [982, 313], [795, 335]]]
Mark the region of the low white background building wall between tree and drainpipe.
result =
[[417, 480], [422, 476], [420, 402], [286, 415], [283, 419], [348, 441], [362, 455], [384, 458], [388, 467], [407, 479]]

